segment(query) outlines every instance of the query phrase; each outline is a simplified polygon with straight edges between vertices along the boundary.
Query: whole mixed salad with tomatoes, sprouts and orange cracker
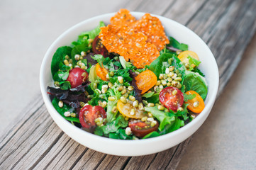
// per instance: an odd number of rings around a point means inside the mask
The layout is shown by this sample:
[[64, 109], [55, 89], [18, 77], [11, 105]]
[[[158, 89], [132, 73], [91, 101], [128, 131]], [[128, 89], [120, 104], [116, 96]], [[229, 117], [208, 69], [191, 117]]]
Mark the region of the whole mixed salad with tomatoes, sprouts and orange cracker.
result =
[[165, 35], [160, 20], [121, 9], [107, 26], [78, 36], [52, 57], [52, 105], [72, 125], [136, 140], [173, 132], [204, 110], [199, 57]]

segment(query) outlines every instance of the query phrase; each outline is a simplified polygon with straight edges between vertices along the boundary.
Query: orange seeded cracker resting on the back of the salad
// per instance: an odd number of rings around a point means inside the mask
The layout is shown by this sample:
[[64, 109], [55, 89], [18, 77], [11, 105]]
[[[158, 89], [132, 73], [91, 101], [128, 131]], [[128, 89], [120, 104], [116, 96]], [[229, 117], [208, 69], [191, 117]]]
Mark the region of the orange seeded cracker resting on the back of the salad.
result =
[[169, 43], [158, 18], [146, 13], [136, 21], [126, 9], [118, 11], [111, 18], [111, 24], [101, 28], [99, 38], [108, 52], [123, 56], [137, 68], [149, 65]]

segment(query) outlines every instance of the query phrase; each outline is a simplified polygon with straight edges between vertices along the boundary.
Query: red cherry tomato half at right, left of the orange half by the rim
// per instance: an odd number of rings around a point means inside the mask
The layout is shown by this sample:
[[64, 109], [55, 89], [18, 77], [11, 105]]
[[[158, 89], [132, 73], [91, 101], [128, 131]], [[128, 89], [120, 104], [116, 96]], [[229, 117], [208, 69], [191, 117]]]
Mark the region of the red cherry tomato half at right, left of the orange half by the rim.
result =
[[[174, 90], [177, 91], [176, 94], [173, 93]], [[182, 107], [184, 103], [184, 96], [182, 91], [180, 91], [178, 88], [169, 86], [162, 89], [159, 94], [159, 100], [166, 108], [169, 108], [172, 111], [177, 111], [177, 109]]]

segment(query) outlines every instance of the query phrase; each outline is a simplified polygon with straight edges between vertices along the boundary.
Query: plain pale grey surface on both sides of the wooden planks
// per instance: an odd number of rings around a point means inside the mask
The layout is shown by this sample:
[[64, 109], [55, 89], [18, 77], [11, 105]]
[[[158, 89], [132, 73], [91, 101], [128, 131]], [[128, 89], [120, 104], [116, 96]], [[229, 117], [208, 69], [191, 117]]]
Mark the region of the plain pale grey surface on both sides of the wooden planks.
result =
[[[0, 1], [0, 135], [40, 93], [40, 63], [50, 44], [74, 24], [125, 2]], [[255, 54], [256, 37], [178, 169], [256, 169]]]

